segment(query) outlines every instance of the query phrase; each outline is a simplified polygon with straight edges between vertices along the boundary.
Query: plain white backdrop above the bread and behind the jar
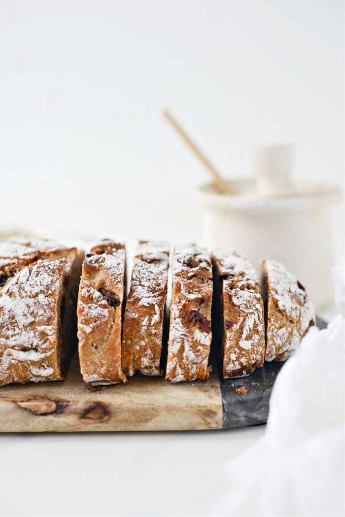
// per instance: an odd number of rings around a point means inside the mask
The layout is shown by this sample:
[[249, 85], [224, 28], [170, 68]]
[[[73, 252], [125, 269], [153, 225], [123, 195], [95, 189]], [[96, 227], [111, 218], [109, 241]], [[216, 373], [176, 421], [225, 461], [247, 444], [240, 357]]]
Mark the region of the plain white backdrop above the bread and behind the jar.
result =
[[[1, 0], [1, 223], [197, 240], [208, 179], [293, 141], [295, 176], [342, 183], [341, 0]], [[107, 236], [107, 235], [106, 235]]]

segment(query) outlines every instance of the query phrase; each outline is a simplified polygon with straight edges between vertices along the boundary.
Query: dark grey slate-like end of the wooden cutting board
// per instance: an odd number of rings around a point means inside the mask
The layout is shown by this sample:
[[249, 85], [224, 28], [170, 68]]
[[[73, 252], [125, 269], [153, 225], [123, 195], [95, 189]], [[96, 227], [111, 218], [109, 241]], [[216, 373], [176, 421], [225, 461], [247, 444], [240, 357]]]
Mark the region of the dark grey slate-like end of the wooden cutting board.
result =
[[[317, 326], [323, 329], [327, 327], [327, 323], [317, 317]], [[269, 399], [276, 377], [283, 365], [284, 362], [265, 362], [261, 368], [257, 368], [247, 377], [219, 378], [223, 404], [223, 429], [267, 422]], [[246, 388], [246, 394], [235, 391], [241, 386]]]

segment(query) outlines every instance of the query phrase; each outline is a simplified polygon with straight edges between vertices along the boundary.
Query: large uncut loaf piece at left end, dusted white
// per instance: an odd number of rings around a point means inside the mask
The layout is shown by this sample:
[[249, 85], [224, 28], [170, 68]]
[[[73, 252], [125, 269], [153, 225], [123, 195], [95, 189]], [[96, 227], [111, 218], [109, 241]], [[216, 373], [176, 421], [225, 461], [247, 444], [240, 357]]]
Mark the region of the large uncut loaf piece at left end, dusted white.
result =
[[64, 378], [77, 347], [82, 258], [44, 239], [0, 242], [0, 385]]

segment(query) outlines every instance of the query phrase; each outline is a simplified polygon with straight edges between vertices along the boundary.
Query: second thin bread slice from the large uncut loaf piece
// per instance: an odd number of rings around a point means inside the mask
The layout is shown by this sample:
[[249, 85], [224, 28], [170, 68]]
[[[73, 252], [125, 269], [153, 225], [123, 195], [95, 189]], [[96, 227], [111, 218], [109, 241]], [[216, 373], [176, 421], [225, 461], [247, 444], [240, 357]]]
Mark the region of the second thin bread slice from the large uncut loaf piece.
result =
[[160, 358], [167, 299], [168, 242], [139, 241], [126, 303], [122, 366], [127, 375], [162, 375]]

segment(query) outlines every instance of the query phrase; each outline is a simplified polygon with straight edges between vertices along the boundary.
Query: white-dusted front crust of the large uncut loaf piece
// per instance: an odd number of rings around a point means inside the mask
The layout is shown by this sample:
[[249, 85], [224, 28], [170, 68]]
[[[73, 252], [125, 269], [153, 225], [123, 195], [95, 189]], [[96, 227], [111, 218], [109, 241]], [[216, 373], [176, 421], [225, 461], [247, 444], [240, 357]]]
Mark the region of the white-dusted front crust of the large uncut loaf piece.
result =
[[[66, 260], [38, 261], [10, 278], [0, 292], [0, 379], [20, 382], [18, 365], [28, 376], [49, 377], [54, 368], [57, 299]], [[55, 358], [56, 361], [56, 358]]]

